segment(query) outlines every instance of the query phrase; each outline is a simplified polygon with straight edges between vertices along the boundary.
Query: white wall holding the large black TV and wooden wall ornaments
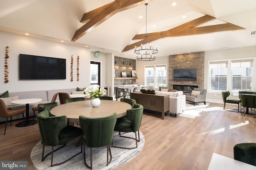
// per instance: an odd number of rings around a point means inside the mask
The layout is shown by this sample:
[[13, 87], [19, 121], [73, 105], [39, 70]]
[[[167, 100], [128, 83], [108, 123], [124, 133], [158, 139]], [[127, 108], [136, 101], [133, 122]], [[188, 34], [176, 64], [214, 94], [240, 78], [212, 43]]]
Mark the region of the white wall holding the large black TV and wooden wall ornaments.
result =
[[[16, 35], [0, 31], [0, 93], [32, 90], [52, 90], [90, 86], [90, 49]], [[9, 82], [4, 83], [4, 62], [6, 47], [9, 52]], [[66, 59], [66, 80], [19, 80], [19, 54], [38, 55]], [[70, 81], [71, 55], [73, 61], [73, 81]], [[79, 81], [77, 81], [77, 55], [79, 55]]]

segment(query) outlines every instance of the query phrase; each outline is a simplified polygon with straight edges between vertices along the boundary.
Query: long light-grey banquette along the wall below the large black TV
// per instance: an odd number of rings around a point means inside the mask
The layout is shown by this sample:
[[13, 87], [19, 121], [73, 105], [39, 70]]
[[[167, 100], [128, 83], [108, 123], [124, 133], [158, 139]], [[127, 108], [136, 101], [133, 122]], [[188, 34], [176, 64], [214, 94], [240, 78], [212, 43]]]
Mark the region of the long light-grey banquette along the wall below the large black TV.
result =
[[[76, 88], [69, 88], [69, 89], [56, 89], [56, 90], [38, 90], [38, 91], [26, 91], [26, 92], [9, 92], [9, 97], [18, 96], [18, 99], [26, 99], [26, 98], [40, 98], [42, 99], [41, 102], [29, 104], [29, 116], [33, 116], [32, 107], [36, 107], [39, 103], [50, 103], [52, 97], [55, 93], [58, 92], [66, 92], [68, 94], [72, 94], [72, 91], [76, 91]], [[0, 92], [0, 94], [2, 94]], [[60, 105], [59, 96], [57, 96], [56, 102]], [[14, 106], [7, 106], [14, 110], [26, 108], [26, 104], [18, 104]], [[24, 114], [26, 115], [26, 114]], [[14, 119], [20, 119], [22, 115], [16, 115], [12, 117]], [[0, 117], [0, 122], [6, 121], [6, 118]]]

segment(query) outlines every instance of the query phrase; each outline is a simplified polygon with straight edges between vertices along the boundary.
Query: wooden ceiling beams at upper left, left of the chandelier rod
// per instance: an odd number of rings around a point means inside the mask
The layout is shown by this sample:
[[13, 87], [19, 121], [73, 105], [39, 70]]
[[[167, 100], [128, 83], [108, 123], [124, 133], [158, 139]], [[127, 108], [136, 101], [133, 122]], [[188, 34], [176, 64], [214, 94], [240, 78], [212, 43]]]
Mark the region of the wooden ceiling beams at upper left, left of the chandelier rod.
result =
[[84, 24], [75, 32], [72, 41], [78, 40], [84, 34], [88, 33], [94, 27], [100, 25], [102, 22], [106, 21], [117, 12], [141, 5], [142, 1], [144, 0], [115, 0], [114, 2], [87, 12], [84, 14], [81, 20], [82, 23], [86, 22], [86, 24]]

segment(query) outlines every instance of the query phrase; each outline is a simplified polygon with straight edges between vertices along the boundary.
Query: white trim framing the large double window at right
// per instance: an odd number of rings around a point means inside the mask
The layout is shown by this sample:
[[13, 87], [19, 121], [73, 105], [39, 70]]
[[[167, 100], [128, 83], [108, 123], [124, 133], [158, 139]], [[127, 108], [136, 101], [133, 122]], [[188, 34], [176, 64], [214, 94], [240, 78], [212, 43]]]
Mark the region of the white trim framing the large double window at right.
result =
[[252, 91], [256, 91], [256, 57], [246, 57], [246, 58], [237, 58], [237, 59], [222, 59], [222, 60], [209, 60], [207, 63], [207, 84], [208, 84], [208, 92], [218, 93], [220, 90], [211, 90], [211, 82], [210, 82], [210, 62], [218, 62], [218, 61], [228, 61], [228, 70], [227, 70], [227, 91], [232, 92], [232, 70], [231, 70], [231, 61], [236, 60], [253, 60], [252, 62]]

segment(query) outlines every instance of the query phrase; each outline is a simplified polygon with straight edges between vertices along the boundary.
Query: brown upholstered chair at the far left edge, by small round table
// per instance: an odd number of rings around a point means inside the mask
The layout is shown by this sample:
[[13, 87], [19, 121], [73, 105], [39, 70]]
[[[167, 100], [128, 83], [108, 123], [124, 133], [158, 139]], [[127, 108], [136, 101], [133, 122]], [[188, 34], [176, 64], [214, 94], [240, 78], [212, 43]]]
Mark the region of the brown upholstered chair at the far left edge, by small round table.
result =
[[19, 110], [12, 110], [11, 108], [6, 107], [5, 104], [4, 104], [4, 101], [0, 99], [0, 117], [6, 117], [5, 127], [4, 127], [4, 135], [5, 135], [5, 132], [6, 132], [8, 118], [11, 117], [10, 125], [12, 126], [12, 116], [22, 114], [23, 121], [25, 123], [25, 119], [24, 119], [24, 112], [25, 111], [26, 111], [26, 108], [19, 109]]

